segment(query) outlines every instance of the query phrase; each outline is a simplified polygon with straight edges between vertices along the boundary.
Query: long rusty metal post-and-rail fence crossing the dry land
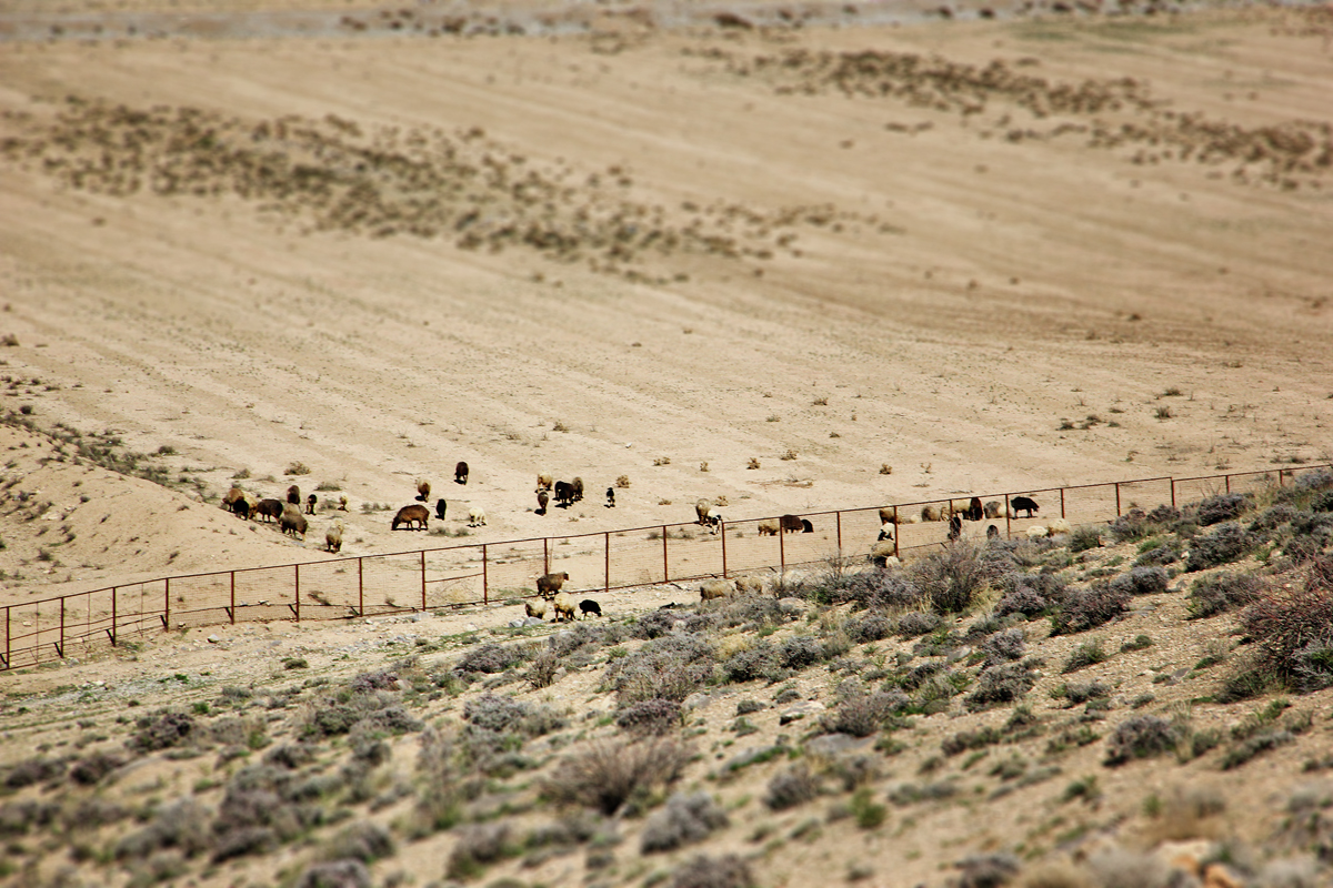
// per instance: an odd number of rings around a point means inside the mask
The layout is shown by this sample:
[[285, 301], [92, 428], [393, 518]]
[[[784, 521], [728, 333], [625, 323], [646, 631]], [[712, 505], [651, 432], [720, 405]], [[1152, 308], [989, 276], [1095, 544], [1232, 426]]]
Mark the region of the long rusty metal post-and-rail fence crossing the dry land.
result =
[[[1306, 466], [1301, 471], [1330, 467]], [[1157, 503], [1176, 506], [1177, 501], [1192, 502], [1217, 493], [1284, 486], [1296, 474], [1296, 469], [1276, 469], [1194, 478], [1164, 475], [1024, 491], [1022, 495], [1046, 499], [1045, 519], [1014, 518], [1010, 501], [1020, 495], [1017, 491], [981, 499], [1002, 499], [1004, 535], [1010, 538], [1049, 521], [1054, 510], [1049, 501], [1057, 495], [1060, 518], [1080, 526], [1112, 521], [1140, 501], [1153, 502], [1153, 497], [1158, 498]], [[760, 570], [785, 571], [830, 556], [869, 555], [884, 511], [892, 511], [897, 525], [893, 551], [902, 556], [938, 546], [948, 534], [944, 523], [906, 523], [908, 513], [926, 506], [952, 511], [957, 499], [806, 513], [804, 518], [813, 527], [808, 533], [788, 534], [780, 529], [769, 534], [766, 523], [778, 518], [721, 522], [716, 530], [697, 523], [653, 525], [184, 574], [5, 604], [0, 671], [85, 654], [105, 644], [115, 647], [149, 631], [235, 624], [237, 619], [351, 619], [489, 606], [533, 596], [533, 578], [552, 572], [553, 564], [569, 574], [567, 588], [571, 591], [612, 591]]]

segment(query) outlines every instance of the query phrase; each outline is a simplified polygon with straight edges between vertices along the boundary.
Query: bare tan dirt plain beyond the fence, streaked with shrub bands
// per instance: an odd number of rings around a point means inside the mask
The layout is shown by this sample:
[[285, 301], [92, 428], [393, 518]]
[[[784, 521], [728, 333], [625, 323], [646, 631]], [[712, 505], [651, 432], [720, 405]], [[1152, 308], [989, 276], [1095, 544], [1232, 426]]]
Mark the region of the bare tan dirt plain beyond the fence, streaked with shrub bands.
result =
[[1333, 458], [1328, 8], [934, 8], [0, 3], [0, 602]]

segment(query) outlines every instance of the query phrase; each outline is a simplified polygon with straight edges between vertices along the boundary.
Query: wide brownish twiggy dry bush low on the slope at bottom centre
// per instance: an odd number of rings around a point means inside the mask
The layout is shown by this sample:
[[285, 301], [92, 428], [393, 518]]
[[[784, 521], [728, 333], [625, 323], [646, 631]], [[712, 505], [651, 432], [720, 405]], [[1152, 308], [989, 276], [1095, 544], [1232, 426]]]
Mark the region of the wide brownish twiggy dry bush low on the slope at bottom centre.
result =
[[556, 766], [545, 793], [553, 801], [611, 816], [636, 796], [676, 780], [692, 755], [690, 747], [669, 738], [595, 740]]

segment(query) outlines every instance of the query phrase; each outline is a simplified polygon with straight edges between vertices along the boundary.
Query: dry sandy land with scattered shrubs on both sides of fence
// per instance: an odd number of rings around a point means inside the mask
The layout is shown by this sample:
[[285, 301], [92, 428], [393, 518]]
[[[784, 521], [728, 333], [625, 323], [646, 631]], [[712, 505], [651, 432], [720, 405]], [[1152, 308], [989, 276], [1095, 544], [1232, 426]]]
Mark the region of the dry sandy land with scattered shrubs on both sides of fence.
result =
[[[0, 4], [0, 602], [1329, 461], [1328, 11], [1064, 5]], [[539, 513], [541, 471], [588, 495]], [[568, 632], [237, 624], [5, 674], [0, 865], [1326, 884], [1329, 639], [1281, 607], [1322, 612], [1320, 478], [697, 614], [664, 587]], [[391, 531], [419, 479], [448, 517]], [[307, 538], [217, 509], [233, 483], [315, 491]], [[1196, 588], [1218, 570], [1256, 579]], [[1109, 622], [1062, 623], [1084, 598]], [[641, 783], [596, 771], [619, 743]]]

